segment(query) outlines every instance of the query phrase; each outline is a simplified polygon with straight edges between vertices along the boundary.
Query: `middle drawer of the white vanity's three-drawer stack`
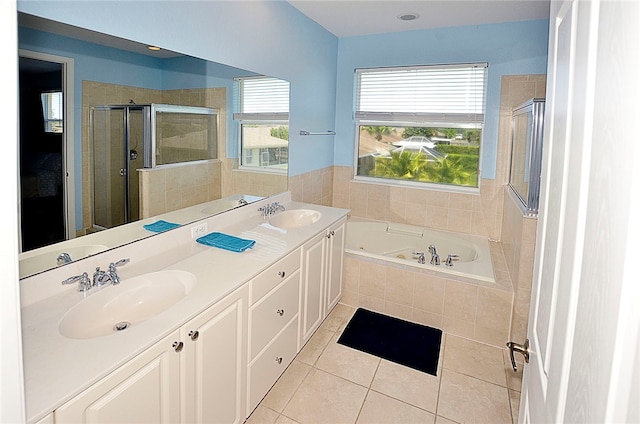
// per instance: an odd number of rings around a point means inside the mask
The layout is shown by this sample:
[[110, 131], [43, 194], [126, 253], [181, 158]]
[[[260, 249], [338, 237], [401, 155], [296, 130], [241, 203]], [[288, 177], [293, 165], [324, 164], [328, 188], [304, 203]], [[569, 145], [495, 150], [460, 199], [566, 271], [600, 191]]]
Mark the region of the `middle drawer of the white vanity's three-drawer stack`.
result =
[[249, 309], [249, 362], [298, 315], [300, 271], [296, 270]]

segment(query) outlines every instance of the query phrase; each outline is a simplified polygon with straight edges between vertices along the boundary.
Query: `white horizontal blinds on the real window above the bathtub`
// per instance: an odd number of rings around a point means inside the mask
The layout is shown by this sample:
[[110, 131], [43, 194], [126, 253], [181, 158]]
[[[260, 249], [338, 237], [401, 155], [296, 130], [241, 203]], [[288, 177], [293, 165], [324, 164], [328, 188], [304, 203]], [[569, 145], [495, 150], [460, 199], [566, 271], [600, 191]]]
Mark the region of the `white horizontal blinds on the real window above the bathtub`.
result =
[[482, 122], [486, 63], [356, 70], [356, 118]]

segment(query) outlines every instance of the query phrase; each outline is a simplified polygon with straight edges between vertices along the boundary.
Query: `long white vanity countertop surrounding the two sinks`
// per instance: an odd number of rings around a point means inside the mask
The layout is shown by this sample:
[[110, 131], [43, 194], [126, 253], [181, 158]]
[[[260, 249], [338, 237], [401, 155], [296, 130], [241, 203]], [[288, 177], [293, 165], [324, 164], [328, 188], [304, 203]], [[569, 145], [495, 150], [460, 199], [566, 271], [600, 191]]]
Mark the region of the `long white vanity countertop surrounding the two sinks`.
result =
[[[186, 226], [78, 261], [73, 266], [65, 266], [65, 270], [57, 269], [23, 280], [22, 284], [27, 285], [22, 288], [23, 296], [32, 300], [22, 309], [28, 422], [33, 423], [51, 413], [348, 212], [319, 205], [284, 203], [287, 210], [308, 208], [322, 213], [321, 219], [314, 224], [285, 231], [268, 225], [257, 212], [263, 203], [272, 201], [274, 198], [267, 198], [264, 202], [206, 220], [208, 233], [219, 231], [256, 240], [252, 249], [242, 253], [200, 245], [191, 239], [190, 227]], [[166, 249], [162, 248], [163, 245], [166, 245]], [[157, 254], [151, 254], [150, 251]], [[62, 336], [58, 332], [60, 319], [85, 295], [77, 292], [75, 284], [60, 289], [60, 281], [83, 270], [91, 275], [96, 263], [105, 267], [106, 263], [120, 257], [131, 258], [131, 262], [122, 267], [120, 272], [123, 285], [127, 278], [159, 270], [189, 271], [198, 282], [175, 305], [126, 331], [81, 340]], [[41, 298], [43, 295], [34, 292], [39, 288], [52, 290], [51, 295], [47, 292], [46, 297]], [[100, 290], [112, 288], [108, 286]], [[87, 292], [88, 296], [91, 294], [91, 290]], [[86, 319], [90, 322], [91, 317], [87, 316]]]

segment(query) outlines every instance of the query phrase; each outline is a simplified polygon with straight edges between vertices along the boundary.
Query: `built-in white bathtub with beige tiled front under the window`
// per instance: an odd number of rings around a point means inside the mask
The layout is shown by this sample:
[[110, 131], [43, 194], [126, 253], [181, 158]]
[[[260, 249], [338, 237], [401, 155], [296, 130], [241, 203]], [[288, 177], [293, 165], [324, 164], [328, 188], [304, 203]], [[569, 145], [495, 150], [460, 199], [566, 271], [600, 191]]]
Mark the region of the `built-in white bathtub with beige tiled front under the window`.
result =
[[[484, 237], [351, 218], [341, 302], [504, 348], [513, 289], [502, 247]], [[436, 246], [441, 264], [429, 263]], [[415, 252], [424, 252], [418, 263]], [[457, 254], [452, 267], [447, 255]]]

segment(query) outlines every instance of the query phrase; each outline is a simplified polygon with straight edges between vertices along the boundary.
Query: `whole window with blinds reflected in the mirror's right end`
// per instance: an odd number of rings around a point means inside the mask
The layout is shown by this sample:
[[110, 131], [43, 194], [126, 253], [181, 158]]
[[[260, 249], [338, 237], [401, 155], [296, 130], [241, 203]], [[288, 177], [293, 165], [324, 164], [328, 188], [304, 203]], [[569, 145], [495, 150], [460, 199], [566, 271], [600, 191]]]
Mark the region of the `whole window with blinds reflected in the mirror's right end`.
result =
[[237, 78], [240, 167], [286, 173], [289, 164], [289, 82]]

